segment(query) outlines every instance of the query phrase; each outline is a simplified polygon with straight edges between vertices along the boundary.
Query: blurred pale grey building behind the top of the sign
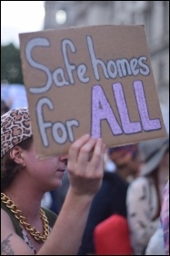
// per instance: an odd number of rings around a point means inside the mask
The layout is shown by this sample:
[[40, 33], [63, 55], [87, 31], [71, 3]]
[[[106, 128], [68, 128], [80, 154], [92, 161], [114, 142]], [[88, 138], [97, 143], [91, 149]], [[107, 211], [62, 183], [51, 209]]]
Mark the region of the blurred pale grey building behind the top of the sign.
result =
[[168, 122], [169, 1], [45, 1], [44, 29], [93, 25], [145, 25], [158, 97]]

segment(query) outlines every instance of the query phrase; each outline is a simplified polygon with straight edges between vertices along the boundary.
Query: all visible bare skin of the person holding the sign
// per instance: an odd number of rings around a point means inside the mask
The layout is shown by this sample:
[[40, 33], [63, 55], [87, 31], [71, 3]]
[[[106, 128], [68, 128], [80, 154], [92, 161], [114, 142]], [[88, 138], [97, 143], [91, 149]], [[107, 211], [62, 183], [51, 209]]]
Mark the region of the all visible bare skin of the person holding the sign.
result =
[[[94, 152], [90, 161], [89, 155]], [[10, 155], [24, 166], [4, 192], [23, 211], [28, 223], [43, 231], [39, 217], [41, 199], [45, 192], [62, 184], [65, 160], [70, 187], [63, 208], [48, 240], [39, 243], [29, 236], [38, 255], [75, 255], [81, 243], [89, 208], [102, 184], [105, 144], [101, 139], [85, 134], [70, 146], [68, 155], [38, 160], [35, 145], [28, 150], [15, 146]], [[31, 206], [31, 207], [30, 207]], [[33, 252], [15, 234], [11, 219], [1, 209], [1, 254], [32, 255]]]

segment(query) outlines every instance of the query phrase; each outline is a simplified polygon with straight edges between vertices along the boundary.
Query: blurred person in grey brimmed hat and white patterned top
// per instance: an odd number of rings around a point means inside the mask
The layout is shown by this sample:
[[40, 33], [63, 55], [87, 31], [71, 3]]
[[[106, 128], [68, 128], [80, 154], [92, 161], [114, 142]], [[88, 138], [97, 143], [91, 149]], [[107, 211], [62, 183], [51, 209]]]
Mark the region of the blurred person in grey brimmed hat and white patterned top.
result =
[[[163, 191], [169, 172], [169, 139], [139, 144], [140, 176], [127, 190], [127, 219], [134, 255], [144, 255], [159, 227]], [[161, 245], [160, 245], [161, 246]]]

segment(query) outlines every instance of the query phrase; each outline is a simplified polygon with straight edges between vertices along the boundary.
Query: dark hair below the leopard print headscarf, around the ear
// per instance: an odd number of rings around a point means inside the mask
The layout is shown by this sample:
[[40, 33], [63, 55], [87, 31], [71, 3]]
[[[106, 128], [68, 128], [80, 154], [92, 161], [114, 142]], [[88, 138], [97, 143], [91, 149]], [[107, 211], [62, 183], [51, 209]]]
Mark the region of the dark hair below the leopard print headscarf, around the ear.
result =
[[[28, 150], [32, 144], [33, 136], [17, 145], [19, 145], [25, 150]], [[3, 192], [6, 187], [9, 187], [11, 185], [13, 179], [15, 178], [15, 176], [21, 168], [22, 166], [16, 164], [15, 161], [10, 157], [9, 152], [7, 152], [1, 158], [1, 192]]]

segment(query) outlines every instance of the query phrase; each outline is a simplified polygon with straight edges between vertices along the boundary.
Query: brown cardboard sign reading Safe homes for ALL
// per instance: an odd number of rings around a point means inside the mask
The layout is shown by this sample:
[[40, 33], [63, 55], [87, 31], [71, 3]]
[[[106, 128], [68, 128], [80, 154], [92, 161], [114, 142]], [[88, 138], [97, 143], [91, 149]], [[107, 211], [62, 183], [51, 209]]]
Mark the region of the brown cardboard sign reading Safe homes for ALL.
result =
[[25, 33], [20, 50], [38, 157], [84, 133], [108, 147], [166, 136], [144, 26]]

